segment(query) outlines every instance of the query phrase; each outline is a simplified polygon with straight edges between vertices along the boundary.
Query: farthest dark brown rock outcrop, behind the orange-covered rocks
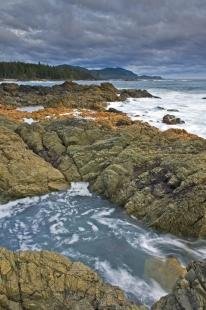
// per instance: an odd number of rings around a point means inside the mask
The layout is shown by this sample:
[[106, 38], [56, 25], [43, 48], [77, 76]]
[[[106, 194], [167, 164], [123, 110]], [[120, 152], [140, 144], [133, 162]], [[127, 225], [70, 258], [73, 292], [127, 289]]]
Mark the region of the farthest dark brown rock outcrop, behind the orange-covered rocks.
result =
[[126, 99], [153, 96], [144, 90], [119, 91], [110, 83], [85, 86], [66, 81], [52, 87], [0, 84], [0, 104], [13, 107], [42, 105], [104, 110], [107, 102], [119, 101], [122, 97]]

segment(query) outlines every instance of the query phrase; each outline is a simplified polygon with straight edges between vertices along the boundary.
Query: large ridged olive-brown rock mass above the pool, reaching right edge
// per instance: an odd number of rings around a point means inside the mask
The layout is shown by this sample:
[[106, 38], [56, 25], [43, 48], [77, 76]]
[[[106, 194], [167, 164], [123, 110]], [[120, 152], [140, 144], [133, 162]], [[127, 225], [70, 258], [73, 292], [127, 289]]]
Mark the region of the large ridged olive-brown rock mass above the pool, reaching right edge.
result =
[[[160, 132], [138, 121], [111, 128], [67, 119], [21, 125], [17, 132], [67, 180], [90, 182], [93, 191], [150, 227], [206, 236], [206, 140], [184, 130]], [[54, 132], [57, 149], [44, 138]]]

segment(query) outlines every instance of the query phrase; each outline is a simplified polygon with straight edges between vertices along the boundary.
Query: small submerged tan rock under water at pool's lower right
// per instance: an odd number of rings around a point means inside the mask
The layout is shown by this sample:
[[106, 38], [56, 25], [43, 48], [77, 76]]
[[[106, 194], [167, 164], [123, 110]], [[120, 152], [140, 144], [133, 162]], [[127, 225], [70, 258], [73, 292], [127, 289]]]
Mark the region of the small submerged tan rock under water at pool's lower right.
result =
[[145, 261], [145, 275], [153, 278], [163, 289], [170, 292], [179, 277], [183, 277], [186, 269], [176, 257], [168, 257], [166, 260], [148, 258]]

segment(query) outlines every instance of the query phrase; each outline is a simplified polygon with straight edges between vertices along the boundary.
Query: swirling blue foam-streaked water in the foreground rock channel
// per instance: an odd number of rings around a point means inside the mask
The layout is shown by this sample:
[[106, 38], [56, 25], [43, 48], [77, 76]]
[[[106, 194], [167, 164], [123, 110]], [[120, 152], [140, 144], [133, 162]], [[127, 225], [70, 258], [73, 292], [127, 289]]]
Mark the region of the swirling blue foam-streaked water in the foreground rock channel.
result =
[[134, 300], [151, 305], [166, 292], [144, 275], [151, 256], [206, 258], [205, 241], [157, 234], [122, 209], [72, 183], [67, 192], [25, 198], [0, 206], [0, 246], [53, 250], [96, 269]]

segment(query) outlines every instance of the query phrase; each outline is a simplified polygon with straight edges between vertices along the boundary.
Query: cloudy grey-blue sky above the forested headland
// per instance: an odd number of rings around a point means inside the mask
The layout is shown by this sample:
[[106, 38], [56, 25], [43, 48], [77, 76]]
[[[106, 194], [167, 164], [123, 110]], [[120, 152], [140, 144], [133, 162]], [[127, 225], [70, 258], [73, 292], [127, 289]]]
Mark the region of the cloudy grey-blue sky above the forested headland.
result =
[[206, 77], [206, 0], [0, 0], [0, 61]]

